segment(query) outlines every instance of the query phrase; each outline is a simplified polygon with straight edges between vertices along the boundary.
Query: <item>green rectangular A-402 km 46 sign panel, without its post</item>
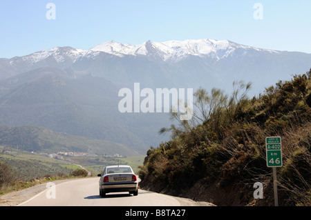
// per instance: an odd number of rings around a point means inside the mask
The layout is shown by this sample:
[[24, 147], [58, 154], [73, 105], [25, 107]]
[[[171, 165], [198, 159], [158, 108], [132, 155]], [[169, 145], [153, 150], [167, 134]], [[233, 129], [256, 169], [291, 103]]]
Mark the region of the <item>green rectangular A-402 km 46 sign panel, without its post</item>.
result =
[[282, 166], [282, 144], [281, 137], [266, 137], [265, 152], [268, 167]]

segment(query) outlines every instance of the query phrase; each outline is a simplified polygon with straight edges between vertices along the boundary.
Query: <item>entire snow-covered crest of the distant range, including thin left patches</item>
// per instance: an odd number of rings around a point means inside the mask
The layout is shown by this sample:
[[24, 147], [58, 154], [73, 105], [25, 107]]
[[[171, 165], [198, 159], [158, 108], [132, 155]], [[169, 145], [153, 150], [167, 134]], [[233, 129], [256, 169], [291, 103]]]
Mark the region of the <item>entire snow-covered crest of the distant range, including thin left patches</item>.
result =
[[274, 50], [263, 50], [251, 46], [243, 46], [232, 41], [217, 41], [213, 39], [198, 39], [186, 41], [166, 41], [166, 42], [152, 42], [146, 41], [142, 44], [132, 46], [129, 43], [117, 43], [115, 41], [108, 41], [102, 43], [90, 50], [82, 50], [71, 47], [51, 48], [48, 50], [41, 50], [24, 57], [14, 57], [10, 60], [10, 65], [14, 66], [16, 62], [25, 61], [29, 63], [38, 63], [45, 59], [53, 58], [57, 63], [64, 63], [70, 61], [75, 63], [78, 59], [92, 58], [94, 59], [100, 52], [105, 52], [117, 57], [124, 56], [146, 56], [161, 59], [162, 61], [176, 62], [187, 56], [209, 57], [211, 59], [224, 59], [232, 55], [237, 50], [243, 52], [263, 51], [278, 53]]

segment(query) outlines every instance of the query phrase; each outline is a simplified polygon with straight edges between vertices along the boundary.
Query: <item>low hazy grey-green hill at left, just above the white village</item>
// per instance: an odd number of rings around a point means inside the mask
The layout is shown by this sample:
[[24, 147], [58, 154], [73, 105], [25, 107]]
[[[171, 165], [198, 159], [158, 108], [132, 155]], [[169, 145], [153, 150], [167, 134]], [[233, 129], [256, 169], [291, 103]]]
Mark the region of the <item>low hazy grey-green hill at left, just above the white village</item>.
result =
[[138, 156], [120, 143], [55, 132], [36, 126], [0, 126], [0, 146], [28, 152], [91, 152], [98, 155]]

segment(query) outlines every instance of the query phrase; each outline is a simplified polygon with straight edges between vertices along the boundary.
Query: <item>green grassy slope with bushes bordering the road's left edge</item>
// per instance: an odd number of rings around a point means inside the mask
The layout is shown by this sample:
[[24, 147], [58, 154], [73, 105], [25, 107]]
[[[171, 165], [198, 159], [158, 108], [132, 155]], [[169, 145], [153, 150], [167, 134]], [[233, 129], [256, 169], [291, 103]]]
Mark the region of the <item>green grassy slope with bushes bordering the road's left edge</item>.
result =
[[0, 146], [0, 194], [47, 181], [84, 177], [79, 170], [67, 161]]

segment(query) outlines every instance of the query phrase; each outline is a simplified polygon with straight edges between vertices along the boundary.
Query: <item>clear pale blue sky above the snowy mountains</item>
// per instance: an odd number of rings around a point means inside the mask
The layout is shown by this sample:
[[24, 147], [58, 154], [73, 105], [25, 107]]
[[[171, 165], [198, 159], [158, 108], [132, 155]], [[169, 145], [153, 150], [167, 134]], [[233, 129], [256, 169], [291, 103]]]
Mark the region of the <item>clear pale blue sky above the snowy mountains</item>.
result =
[[310, 10], [310, 0], [3, 0], [0, 57], [186, 39], [311, 53]]

